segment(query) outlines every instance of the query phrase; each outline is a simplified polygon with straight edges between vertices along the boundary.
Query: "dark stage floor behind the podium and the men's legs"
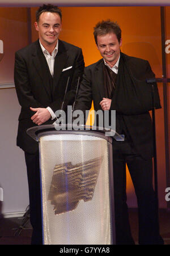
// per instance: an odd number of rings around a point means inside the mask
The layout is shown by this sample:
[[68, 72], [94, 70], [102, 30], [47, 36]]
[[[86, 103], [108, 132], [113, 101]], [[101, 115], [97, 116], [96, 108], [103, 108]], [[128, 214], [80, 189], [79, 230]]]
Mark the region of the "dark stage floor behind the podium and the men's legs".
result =
[[[138, 244], [137, 209], [129, 209], [131, 232]], [[165, 245], [170, 245], [170, 212], [159, 209], [160, 234]], [[23, 217], [0, 219], [0, 245], [29, 245], [32, 228], [29, 223], [29, 213]]]

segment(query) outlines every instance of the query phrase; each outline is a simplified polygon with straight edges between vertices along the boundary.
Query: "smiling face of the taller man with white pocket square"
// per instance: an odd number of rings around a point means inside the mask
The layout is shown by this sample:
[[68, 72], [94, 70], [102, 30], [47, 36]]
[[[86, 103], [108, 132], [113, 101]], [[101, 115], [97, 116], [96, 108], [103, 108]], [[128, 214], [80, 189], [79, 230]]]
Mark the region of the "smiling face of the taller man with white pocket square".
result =
[[35, 28], [44, 47], [55, 46], [61, 32], [61, 18], [54, 12], [42, 12], [39, 22], [35, 22]]

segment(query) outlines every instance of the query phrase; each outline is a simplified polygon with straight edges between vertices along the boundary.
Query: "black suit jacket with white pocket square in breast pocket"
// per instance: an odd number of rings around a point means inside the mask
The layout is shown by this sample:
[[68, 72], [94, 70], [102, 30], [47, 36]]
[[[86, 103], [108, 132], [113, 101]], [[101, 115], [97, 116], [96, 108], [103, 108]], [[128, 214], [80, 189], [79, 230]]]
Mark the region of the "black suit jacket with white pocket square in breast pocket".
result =
[[[71, 68], [67, 69], [69, 67]], [[36, 125], [31, 120], [35, 112], [32, 112], [29, 107], [50, 107], [54, 112], [61, 109], [67, 79], [70, 77], [64, 106], [66, 110], [66, 106], [74, 102], [78, 77], [82, 78], [83, 70], [82, 50], [65, 41], [58, 40], [53, 84], [49, 81], [50, 72], [39, 40], [15, 53], [14, 81], [22, 107], [19, 115], [17, 145], [25, 152], [35, 153], [38, 149], [38, 143], [26, 133], [28, 128]], [[53, 122], [54, 120], [49, 120], [44, 124]]]

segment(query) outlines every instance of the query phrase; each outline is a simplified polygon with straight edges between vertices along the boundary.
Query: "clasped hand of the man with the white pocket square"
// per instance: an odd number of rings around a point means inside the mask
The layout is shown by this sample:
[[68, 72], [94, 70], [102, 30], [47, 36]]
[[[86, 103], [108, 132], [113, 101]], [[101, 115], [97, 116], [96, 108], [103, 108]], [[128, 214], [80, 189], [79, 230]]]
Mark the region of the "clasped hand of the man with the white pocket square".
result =
[[33, 123], [40, 125], [45, 123], [46, 121], [48, 121], [51, 117], [50, 112], [46, 109], [46, 108], [32, 108], [30, 107], [31, 111], [36, 112], [36, 114], [34, 114], [31, 117], [31, 120], [33, 121]]

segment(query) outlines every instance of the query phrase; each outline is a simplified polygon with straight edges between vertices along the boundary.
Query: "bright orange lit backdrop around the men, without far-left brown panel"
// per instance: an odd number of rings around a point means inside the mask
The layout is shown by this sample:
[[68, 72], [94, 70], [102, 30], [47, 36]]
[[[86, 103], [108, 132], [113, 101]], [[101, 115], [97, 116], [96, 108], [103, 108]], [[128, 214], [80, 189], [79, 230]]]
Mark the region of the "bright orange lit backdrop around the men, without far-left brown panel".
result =
[[[32, 14], [32, 41], [37, 39], [34, 29], [35, 11]], [[160, 27], [160, 7], [61, 7], [62, 32], [60, 39], [82, 48], [85, 65], [90, 65], [101, 58], [97, 50], [93, 31], [95, 24], [103, 19], [117, 21], [122, 30], [121, 51], [131, 56], [144, 58], [151, 64], [156, 77], [162, 77], [162, 45]], [[163, 87], [159, 85], [163, 106]], [[93, 106], [92, 106], [93, 109]], [[159, 198], [165, 206], [165, 152], [163, 108], [156, 111]], [[90, 119], [87, 120], [91, 124]], [[134, 188], [127, 168], [127, 192], [131, 205], [136, 204]]]

